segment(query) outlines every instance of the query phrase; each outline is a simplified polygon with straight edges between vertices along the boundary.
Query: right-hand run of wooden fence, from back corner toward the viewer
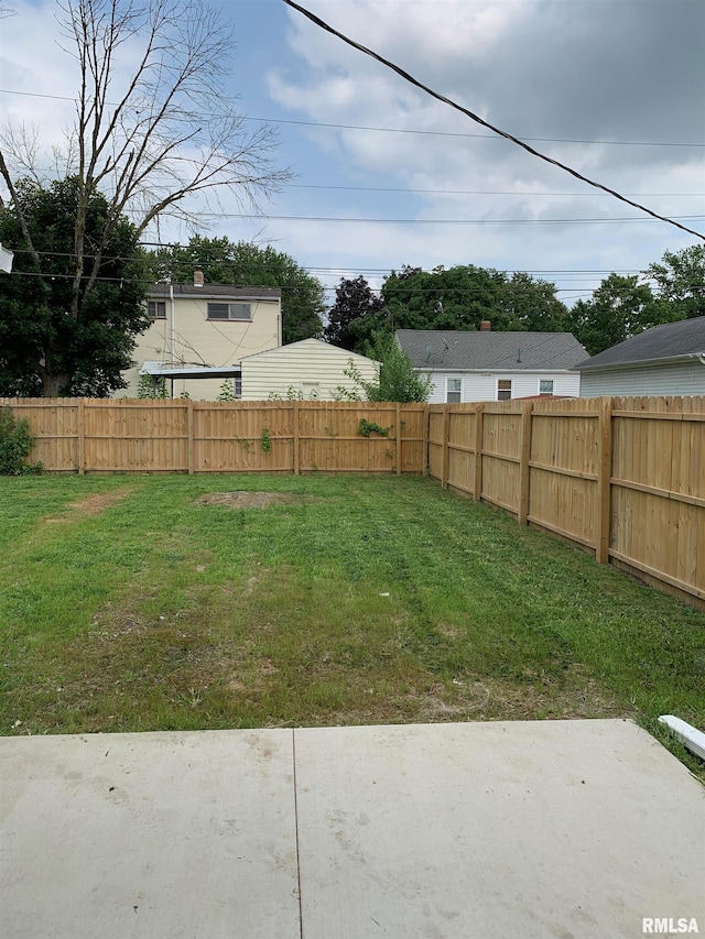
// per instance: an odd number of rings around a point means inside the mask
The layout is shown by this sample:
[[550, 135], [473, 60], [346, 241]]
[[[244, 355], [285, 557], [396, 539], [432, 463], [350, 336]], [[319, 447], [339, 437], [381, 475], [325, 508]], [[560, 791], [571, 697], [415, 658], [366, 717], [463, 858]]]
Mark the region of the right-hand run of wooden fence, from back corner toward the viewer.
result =
[[705, 601], [705, 398], [431, 405], [444, 487]]

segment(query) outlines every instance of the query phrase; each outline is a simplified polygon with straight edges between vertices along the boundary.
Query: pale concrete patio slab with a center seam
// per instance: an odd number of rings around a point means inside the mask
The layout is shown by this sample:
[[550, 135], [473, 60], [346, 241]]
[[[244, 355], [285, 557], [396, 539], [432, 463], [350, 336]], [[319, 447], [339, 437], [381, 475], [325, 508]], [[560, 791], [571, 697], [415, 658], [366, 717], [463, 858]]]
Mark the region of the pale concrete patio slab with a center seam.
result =
[[2, 939], [705, 932], [705, 790], [629, 721], [2, 738], [0, 774]]

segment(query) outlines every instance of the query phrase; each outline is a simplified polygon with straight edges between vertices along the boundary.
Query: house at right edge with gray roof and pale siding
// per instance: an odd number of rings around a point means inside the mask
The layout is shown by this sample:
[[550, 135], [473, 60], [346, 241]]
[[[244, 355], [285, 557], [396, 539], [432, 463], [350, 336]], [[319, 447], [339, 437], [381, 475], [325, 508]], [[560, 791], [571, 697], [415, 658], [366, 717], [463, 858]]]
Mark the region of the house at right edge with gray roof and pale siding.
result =
[[644, 329], [575, 368], [581, 397], [705, 395], [705, 316]]

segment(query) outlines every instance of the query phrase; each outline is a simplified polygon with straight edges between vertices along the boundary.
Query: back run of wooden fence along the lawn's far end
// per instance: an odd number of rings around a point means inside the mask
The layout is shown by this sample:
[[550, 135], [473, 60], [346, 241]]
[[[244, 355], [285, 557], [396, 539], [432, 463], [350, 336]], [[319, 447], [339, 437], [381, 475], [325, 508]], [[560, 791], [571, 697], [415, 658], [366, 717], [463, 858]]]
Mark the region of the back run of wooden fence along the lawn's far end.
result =
[[[26, 417], [35, 437], [31, 459], [50, 471], [401, 473], [425, 468], [425, 404], [131, 398], [1, 404]], [[360, 433], [361, 421], [369, 436]]]

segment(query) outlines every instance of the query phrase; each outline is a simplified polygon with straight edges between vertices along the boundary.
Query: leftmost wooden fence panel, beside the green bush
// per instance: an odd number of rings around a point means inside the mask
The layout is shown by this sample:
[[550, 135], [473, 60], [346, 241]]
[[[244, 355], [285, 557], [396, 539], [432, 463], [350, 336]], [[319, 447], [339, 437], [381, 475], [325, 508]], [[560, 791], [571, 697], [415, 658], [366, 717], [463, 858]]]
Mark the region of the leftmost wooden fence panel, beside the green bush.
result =
[[75, 397], [8, 397], [8, 405], [17, 417], [29, 422], [35, 438], [30, 462], [41, 462], [47, 470], [75, 470], [78, 466], [79, 422], [78, 401]]

